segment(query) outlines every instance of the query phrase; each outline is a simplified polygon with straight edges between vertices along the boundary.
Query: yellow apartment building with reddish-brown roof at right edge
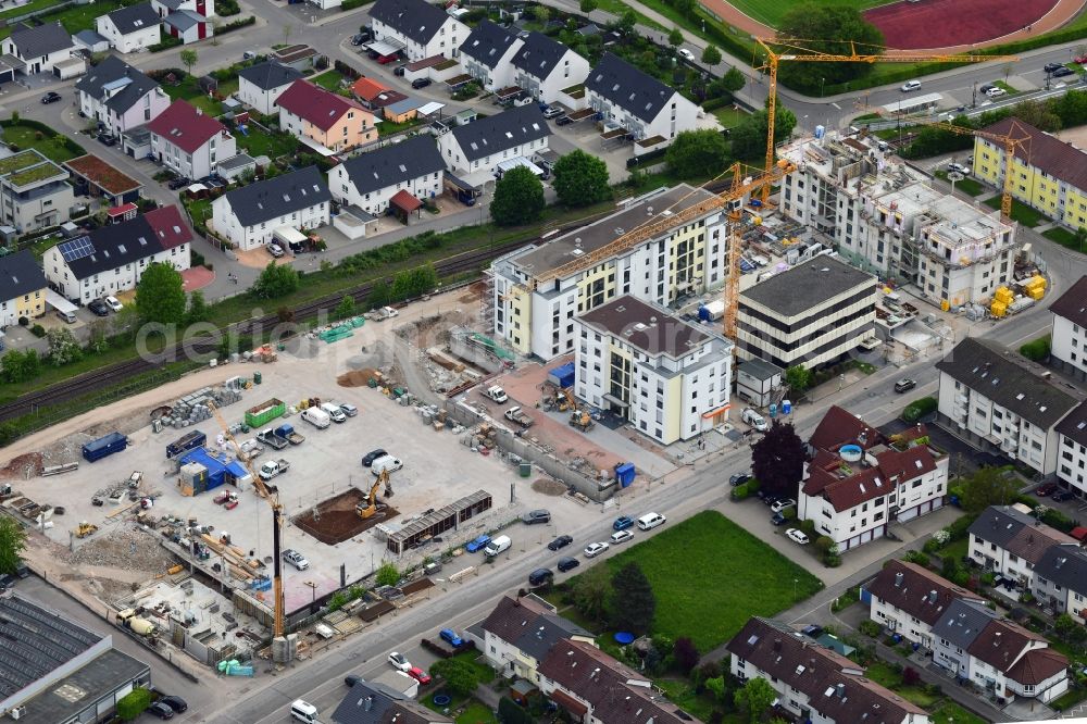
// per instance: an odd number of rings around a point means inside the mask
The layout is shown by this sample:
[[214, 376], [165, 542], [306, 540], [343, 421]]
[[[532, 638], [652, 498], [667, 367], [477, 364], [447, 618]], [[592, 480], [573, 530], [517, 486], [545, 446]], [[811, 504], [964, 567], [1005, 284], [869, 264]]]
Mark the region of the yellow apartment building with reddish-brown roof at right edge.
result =
[[1087, 226], [1087, 153], [1052, 134], [1010, 116], [984, 128], [986, 138], [974, 139], [974, 175], [997, 188], [1004, 187], [1003, 141], [1015, 145], [1011, 165], [1012, 196], [1072, 228]]

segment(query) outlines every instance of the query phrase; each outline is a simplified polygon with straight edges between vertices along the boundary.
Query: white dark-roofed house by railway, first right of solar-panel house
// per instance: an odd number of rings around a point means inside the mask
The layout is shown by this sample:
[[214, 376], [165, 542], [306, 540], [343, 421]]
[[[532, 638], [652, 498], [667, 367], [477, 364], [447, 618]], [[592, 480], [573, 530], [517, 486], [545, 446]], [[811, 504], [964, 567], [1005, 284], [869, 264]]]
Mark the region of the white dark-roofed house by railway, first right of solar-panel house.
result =
[[273, 241], [277, 229], [313, 229], [329, 222], [332, 195], [316, 166], [228, 191], [212, 204], [215, 234], [242, 251]]

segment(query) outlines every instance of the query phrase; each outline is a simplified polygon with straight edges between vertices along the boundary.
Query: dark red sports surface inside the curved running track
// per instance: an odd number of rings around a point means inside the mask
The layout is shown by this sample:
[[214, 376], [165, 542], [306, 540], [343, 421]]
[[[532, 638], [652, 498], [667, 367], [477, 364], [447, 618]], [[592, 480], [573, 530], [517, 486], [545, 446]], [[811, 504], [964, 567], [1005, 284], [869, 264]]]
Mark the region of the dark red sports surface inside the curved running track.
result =
[[1037, 23], [1059, 0], [921, 0], [874, 8], [865, 20], [878, 27], [888, 48], [972, 46]]

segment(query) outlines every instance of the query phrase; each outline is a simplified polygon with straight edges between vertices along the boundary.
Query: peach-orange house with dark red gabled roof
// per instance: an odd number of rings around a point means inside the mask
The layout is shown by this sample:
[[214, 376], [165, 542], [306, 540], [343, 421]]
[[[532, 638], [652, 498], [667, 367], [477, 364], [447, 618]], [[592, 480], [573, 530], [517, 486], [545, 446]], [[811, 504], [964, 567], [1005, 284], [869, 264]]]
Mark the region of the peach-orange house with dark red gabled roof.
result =
[[330, 155], [377, 139], [374, 115], [358, 101], [308, 80], [296, 80], [276, 100], [279, 127]]

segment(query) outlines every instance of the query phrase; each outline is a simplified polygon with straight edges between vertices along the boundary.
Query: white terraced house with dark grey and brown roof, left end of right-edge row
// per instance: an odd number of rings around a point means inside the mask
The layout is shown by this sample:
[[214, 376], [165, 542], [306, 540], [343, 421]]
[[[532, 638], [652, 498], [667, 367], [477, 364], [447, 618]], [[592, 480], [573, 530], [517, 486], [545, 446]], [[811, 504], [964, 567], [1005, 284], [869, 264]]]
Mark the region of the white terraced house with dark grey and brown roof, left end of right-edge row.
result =
[[970, 526], [966, 554], [979, 566], [1034, 587], [1035, 567], [1053, 546], [1076, 541], [1035, 519], [1023, 505], [990, 505]]

